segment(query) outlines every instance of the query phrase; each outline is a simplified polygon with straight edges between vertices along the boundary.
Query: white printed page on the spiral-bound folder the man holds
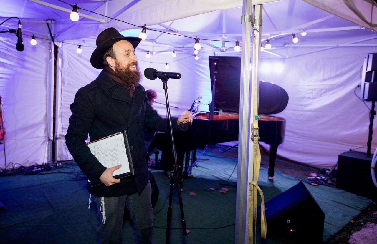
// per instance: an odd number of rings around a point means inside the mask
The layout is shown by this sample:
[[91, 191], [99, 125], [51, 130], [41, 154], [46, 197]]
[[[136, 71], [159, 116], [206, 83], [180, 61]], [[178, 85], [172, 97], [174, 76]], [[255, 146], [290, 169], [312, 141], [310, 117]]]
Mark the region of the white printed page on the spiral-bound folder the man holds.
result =
[[113, 176], [130, 172], [130, 165], [122, 133], [89, 143], [88, 147], [90, 152], [106, 168], [122, 165], [120, 169], [114, 171]]

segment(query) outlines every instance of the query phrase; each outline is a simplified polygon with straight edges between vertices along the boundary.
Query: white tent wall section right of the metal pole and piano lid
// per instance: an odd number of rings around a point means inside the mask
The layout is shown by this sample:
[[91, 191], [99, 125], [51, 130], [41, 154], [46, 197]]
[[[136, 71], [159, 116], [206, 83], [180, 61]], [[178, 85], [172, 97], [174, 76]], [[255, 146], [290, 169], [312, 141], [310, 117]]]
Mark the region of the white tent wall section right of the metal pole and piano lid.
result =
[[[300, 52], [305, 52], [302, 49]], [[308, 48], [306, 52], [311, 50]], [[289, 95], [287, 108], [276, 114], [287, 120], [285, 140], [277, 150], [278, 155], [317, 168], [329, 168], [343, 151], [366, 144], [369, 110], [354, 90], [360, 84], [365, 55], [376, 51], [375, 47], [337, 47], [285, 59], [280, 75], [261, 70], [261, 80], [279, 85]], [[356, 94], [360, 96], [360, 88]], [[371, 107], [370, 102], [366, 104]], [[377, 123], [373, 129], [376, 131]], [[374, 134], [372, 152], [376, 141]], [[366, 152], [366, 147], [357, 151]]]

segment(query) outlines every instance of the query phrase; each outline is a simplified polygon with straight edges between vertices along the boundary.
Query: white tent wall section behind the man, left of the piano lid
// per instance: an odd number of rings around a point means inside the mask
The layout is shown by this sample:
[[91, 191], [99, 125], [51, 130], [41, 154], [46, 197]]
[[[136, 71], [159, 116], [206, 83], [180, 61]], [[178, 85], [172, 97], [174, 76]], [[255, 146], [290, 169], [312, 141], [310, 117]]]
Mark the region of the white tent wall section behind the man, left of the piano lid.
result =
[[[80, 40], [81, 43], [83, 40]], [[67, 40], [67, 43], [79, 43], [78, 40]], [[88, 40], [86, 40], [88, 43]], [[89, 40], [90, 42], [90, 40]], [[91, 44], [91, 43], [90, 43]], [[84, 85], [89, 84], [97, 78], [101, 72], [90, 65], [90, 55], [94, 48], [83, 46], [83, 52], [76, 52], [77, 46], [71, 44], [63, 44], [61, 48], [62, 59], [62, 78], [61, 78], [61, 98], [57, 99], [61, 103], [60, 111], [58, 111], [57, 126], [57, 160], [71, 160], [64, 136], [67, 133], [69, 125], [69, 117], [72, 114], [70, 104], [74, 101], [77, 90]], [[85, 44], [84, 44], [85, 45]], [[136, 49], [137, 50], [137, 49]], [[169, 64], [169, 72], [182, 73], [181, 79], [170, 79], [168, 81], [168, 95], [170, 105], [179, 107], [170, 108], [172, 117], [178, 117], [184, 110], [189, 109], [194, 99], [199, 95], [203, 96], [203, 102], [208, 103], [211, 99], [211, 87], [208, 69], [208, 55], [200, 56], [199, 60], [194, 59], [194, 55], [189, 53], [179, 53], [176, 58], [171, 54], [151, 55], [149, 59], [145, 56], [146, 52], [136, 51], [140, 72], [142, 73], [141, 85], [148, 90], [153, 89], [157, 92], [157, 101], [166, 104], [165, 93], [162, 88], [162, 82], [159, 79], [149, 80], [143, 75], [144, 69], [153, 67], [157, 70], [166, 70], [166, 63]], [[151, 63], [152, 62], [152, 63]], [[166, 117], [166, 106], [154, 104], [153, 108], [161, 117]], [[208, 109], [208, 105], [204, 105], [203, 109]]]

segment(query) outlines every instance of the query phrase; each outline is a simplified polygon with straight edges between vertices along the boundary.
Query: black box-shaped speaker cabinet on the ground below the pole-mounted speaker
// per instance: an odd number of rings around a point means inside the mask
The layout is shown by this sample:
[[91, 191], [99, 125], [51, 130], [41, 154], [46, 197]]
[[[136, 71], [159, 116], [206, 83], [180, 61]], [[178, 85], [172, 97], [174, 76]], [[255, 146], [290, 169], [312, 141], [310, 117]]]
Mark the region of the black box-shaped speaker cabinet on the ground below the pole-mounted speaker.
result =
[[338, 156], [336, 187], [377, 200], [377, 188], [371, 175], [372, 157], [366, 153], [348, 151]]

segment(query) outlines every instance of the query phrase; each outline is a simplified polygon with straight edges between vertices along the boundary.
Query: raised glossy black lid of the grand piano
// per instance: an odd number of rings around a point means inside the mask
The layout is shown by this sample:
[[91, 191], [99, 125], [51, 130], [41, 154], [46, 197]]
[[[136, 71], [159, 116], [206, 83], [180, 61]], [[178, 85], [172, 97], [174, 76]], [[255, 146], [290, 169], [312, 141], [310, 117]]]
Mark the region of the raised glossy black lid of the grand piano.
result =
[[[216, 63], [216, 64], [215, 64]], [[209, 56], [211, 87], [215, 72], [215, 110], [239, 112], [241, 58]], [[270, 82], [259, 82], [259, 113], [276, 114], [287, 107], [288, 93]]]

